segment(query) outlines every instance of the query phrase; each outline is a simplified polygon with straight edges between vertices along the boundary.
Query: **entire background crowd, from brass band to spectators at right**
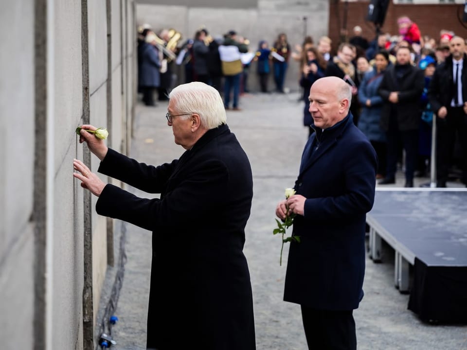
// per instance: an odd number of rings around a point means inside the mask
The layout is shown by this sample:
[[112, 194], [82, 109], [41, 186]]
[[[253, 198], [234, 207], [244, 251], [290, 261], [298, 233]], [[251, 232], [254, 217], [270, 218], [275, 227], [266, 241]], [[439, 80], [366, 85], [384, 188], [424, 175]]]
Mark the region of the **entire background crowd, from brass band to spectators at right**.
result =
[[[257, 50], [251, 51], [249, 40], [234, 30], [213, 38], [206, 29], [200, 29], [182, 46], [169, 48], [168, 30], [155, 35], [150, 28], [142, 27], [139, 91], [146, 105], [154, 105], [156, 89], [159, 100], [167, 99], [175, 85], [172, 67], [176, 61], [184, 67], [186, 83], [200, 81], [213, 86], [223, 97], [226, 109], [239, 110], [240, 96], [249, 91], [252, 62], [256, 63], [261, 92], [269, 92], [272, 76], [275, 91], [284, 93], [287, 67], [294, 61], [300, 66], [303, 121], [310, 135], [314, 130], [309, 89], [319, 78], [337, 76], [351, 86], [353, 121], [377, 152], [380, 184], [395, 183], [397, 165], [402, 166], [404, 158], [405, 186], [413, 187], [414, 176], [428, 175], [433, 116], [438, 126], [437, 186], [445, 187], [450, 176], [458, 175], [460, 169], [463, 172], [458, 177], [467, 183], [467, 86], [462, 84], [467, 76], [463, 69], [465, 40], [449, 30], [442, 30], [438, 40], [424, 36], [407, 16], [398, 18], [397, 24], [398, 35], [378, 33], [373, 40], [364, 38], [361, 27], [356, 26], [353, 36], [340, 43], [335, 55], [327, 36], [321, 37], [317, 45], [306, 36], [301, 46], [292, 49], [287, 35], [281, 33], [272, 46], [261, 40]], [[460, 68], [454, 71], [453, 67]]]

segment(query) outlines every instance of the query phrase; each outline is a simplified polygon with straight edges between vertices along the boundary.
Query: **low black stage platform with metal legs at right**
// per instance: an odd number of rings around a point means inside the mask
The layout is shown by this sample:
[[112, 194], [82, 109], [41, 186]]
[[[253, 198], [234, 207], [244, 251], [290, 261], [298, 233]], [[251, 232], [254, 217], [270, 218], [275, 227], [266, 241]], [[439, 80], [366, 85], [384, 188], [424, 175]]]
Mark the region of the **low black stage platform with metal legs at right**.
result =
[[467, 323], [467, 190], [377, 189], [367, 223], [374, 261], [381, 239], [395, 249], [395, 285], [410, 290], [409, 309], [424, 320]]

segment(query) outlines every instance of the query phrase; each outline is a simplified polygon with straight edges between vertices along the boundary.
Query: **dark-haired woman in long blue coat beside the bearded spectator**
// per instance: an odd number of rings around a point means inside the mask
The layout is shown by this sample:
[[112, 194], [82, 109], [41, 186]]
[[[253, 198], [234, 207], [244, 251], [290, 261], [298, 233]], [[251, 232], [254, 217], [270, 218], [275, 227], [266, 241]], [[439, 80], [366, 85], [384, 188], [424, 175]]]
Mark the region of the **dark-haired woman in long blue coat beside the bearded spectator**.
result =
[[375, 55], [375, 69], [365, 73], [359, 88], [359, 102], [363, 106], [359, 129], [375, 148], [378, 157], [377, 178], [386, 176], [386, 133], [379, 125], [383, 99], [378, 94], [378, 88], [389, 62], [389, 53], [386, 50], [379, 51]]

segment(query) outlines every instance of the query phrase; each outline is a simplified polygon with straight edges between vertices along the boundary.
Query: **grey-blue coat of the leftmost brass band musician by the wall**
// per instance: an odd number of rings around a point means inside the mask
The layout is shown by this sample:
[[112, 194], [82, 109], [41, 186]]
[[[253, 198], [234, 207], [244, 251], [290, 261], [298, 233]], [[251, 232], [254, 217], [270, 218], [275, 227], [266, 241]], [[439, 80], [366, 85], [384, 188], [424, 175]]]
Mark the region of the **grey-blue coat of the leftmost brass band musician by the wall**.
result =
[[138, 83], [141, 87], [158, 88], [161, 84], [161, 63], [158, 50], [149, 43], [141, 47], [140, 65], [138, 66]]

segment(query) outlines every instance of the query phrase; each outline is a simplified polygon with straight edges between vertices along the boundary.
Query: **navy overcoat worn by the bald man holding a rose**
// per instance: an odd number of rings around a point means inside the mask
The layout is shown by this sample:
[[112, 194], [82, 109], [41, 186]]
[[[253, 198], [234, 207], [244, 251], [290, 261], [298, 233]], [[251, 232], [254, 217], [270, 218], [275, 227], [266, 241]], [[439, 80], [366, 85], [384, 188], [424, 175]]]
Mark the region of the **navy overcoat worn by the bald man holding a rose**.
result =
[[294, 187], [307, 199], [304, 216], [293, 223], [301, 242], [290, 243], [284, 300], [352, 310], [363, 297], [365, 218], [375, 199], [377, 157], [351, 113], [315, 131]]

